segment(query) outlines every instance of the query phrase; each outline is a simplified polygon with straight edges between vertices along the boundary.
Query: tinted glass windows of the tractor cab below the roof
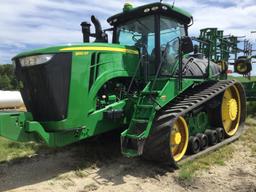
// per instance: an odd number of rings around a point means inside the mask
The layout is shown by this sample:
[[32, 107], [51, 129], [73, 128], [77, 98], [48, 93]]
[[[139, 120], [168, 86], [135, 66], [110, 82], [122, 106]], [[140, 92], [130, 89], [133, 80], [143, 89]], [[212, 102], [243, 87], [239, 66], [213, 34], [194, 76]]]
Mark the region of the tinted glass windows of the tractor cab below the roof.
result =
[[[155, 16], [133, 19], [116, 27], [115, 43], [136, 46], [145, 57], [148, 73], [155, 74], [160, 61], [156, 61], [156, 53], [161, 57], [160, 75], [173, 75], [179, 61], [179, 38], [185, 35], [184, 25], [170, 17], [159, 17], [160, 37], [156, 37]], [[157, 39], [157, 41], [156, 41]], [[160, 50], [156, 50], [155, 42], [159, 42]]]

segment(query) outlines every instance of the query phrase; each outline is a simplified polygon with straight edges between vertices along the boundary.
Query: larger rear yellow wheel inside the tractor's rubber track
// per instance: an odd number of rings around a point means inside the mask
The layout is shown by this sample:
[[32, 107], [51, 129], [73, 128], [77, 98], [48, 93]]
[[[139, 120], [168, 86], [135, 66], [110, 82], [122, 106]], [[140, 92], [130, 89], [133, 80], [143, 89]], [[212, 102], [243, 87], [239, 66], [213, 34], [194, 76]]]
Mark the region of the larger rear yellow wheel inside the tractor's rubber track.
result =
[[224, 92], [221, 104], [222, 126], [228, 136], [233, 136], [237, 132], [240, 116], [240, 94], [236, 86], [232, 86]]

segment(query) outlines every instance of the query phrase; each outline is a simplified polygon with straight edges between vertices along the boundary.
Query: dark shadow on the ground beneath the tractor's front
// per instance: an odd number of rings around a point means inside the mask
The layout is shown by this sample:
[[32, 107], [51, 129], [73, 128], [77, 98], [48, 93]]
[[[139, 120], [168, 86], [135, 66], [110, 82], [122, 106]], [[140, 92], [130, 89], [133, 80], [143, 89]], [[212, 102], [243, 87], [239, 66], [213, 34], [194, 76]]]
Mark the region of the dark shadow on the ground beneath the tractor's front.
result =
[[110, 133], [61, 149], [39, 150], [38, 155], [0, 163], [0, 191], [33, 185], [57, 178], [61, 174], [97, 167], [93, 180], [112, 185], [125, 183], [131, 175], [157, 179], [172, 170], [120, 154], [120, 133]]

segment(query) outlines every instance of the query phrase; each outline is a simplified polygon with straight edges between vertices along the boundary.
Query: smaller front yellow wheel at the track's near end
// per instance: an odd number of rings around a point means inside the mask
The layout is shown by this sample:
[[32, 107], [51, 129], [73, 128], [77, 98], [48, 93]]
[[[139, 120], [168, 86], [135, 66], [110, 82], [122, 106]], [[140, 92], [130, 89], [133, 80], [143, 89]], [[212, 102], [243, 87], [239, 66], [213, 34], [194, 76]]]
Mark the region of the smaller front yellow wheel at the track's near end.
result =
[[179, 117], [170, 133], [170, 150], [174, 161], [179, 161], [188, 148], [188, 125], [183, 117]]

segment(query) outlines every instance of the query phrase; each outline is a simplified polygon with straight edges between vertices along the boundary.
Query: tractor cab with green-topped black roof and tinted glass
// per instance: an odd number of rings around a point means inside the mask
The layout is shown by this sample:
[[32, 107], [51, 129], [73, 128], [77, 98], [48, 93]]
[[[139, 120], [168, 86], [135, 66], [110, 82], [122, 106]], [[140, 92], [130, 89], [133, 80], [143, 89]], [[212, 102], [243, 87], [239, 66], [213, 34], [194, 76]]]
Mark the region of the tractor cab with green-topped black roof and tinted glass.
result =
[[[123, 12], [110, 17], [108, 22], [113, 26], [114, 44], [135, 46], [140, 50], [145, 78], [154, 76], [157, 71], [162, 76], [176, 74], [181, 40], [187, 36], [188, 25], [192, 23], [189, 13], [164, 3], [138, 8], [125, 4]], [[193, 51], [191, 40], [185, 45], [190, 46], [184, 48], [187, 52]]]

